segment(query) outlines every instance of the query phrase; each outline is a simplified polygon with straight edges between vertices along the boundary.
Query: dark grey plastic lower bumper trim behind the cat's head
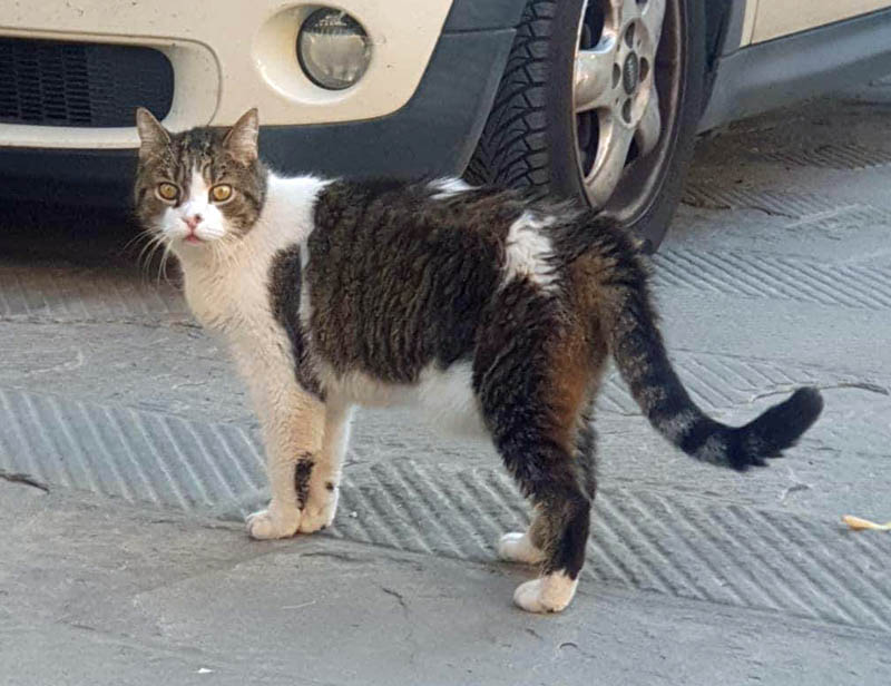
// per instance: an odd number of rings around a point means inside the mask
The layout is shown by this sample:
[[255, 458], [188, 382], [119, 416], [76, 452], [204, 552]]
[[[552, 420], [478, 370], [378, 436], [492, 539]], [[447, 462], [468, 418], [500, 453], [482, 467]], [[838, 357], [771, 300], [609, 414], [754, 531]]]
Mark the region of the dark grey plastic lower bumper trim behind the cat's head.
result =
[[[361, 121], [263, 126], [262, 155], [283, 174], [460, 174], [491, 109], [513, 33], [443, 33], [418, 89], [398, 111]], [[6, 197], [119, 206], [129, 202], [135, 166], [135, 149], [6, 148], [0, 188]]]

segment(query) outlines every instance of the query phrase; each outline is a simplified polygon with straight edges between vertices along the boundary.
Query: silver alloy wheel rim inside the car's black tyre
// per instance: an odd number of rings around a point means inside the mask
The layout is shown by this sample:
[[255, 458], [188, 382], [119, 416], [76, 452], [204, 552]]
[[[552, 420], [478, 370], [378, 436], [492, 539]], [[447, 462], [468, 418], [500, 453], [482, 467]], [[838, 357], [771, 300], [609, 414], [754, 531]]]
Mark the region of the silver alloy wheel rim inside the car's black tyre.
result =
[[[588, 0], [582, 9], [572, 115], [581, 186], [595, 207], [613, 198], [610, 206], [630, 215], [652, 200], [666, 144], [672, 144], [665, 133], [675, 125], [679, 82], [679, 22], [672, 12], [666, 17], [667, 4]], [[623, 183], [631, 176], [634, 188]]]

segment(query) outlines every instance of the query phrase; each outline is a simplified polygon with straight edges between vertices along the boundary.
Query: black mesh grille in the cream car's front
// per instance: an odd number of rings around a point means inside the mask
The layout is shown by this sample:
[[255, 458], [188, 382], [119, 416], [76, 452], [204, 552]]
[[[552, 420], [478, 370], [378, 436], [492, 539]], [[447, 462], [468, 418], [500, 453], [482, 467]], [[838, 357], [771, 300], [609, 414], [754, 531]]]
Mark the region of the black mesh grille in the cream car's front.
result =
[[0, 124], [134, 126], [170, 110], [174, 70], [151, 48], [0, 38]]

